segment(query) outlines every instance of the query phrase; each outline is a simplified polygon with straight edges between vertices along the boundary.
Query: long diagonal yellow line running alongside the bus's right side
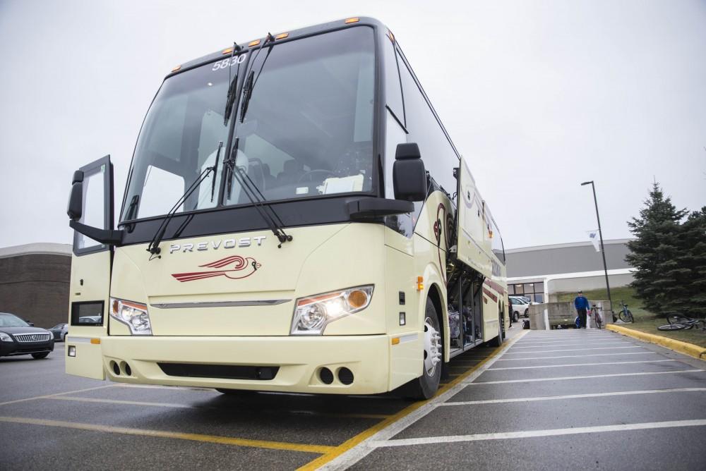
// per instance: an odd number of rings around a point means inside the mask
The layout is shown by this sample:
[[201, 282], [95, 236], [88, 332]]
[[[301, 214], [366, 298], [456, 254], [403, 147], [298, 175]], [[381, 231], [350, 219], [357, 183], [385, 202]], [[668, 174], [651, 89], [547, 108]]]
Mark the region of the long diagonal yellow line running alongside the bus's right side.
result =
[[[515, 339], [519, 339], [523, 336], [524, 334], [520, 334], [518, 336], [515, 336]], [[436, 391], [436, 394], [434, 397], [438, 396], [439, 394], [445, 393], [445, 391], [448, 391], [449, 389], [453, 388], [457, 384], [459, 384], [461, 381], [463, 381], [466, 377], [468, 377], [470, 374], [472, 374], [475, 370], [479, 369], [481, 366], [484, 365], [488, 360], [490, 360], [492, 357], [495, 357], [500, 353], [502, 350], [505, 348], [508, 348], [510, 345], [512, 345], [514, 341], [508, 341], [508, 343], [505, 343], [504, 345], [499, 346], [498, 348], [495, 348], [487, 357], [484, 358], [484, 360], [481, 360], [477, 365], [474, 365], [471, 367], [467, 372], [460, 374], [458, 377], [454, 378], [453, 381], [450, 381], [443, 386], [441, 386], [438, 391]], [[430, 399], [431, 400], [431, 399]], [[352, 439], [348, 439], [347, 441], [343, 442], [339, 446], [332, 447], [333, 449], [329, 451], [328, 453], [325, 453], [324, 455], [321, 455], [320, 457], [316, 458], [316, 460], [310, 461], [309, 463], [306, 463], [306, 465], [299, 467], [297, 471], [309, 471], [309, 470], [316, 470], [318, 467], [321, 467], [328, 463], [329, 461], [333, 460], [334, 458], [337, 458], [339, 455], [342, 455], [346, 451], [350, 450], [354, 446], [357, 446], [358, 444], [361, 443], [361, 441], [364, 441], [368, 439], [369, 437], [373, 436], [374, 434], [380, 432], [382, 429], [385, 427], [388, 427], [388, 425], [393, 424], [397, 422], [397, 420], [402, 419], [402, 417], [405, 417], [406, 415], [411, 414], [415, 410], [421, 408], [422, 405], [426, 404], [429, 402], [429, 400], [419, 400], [416, 403], [413, 403], [407, 408], [404, 408], [400, 410], [400, 412], [397, 412], [395, 415], [391, 415], [387, 419], [373, 425], [373, 427], [370, 427], [367, 430], [364, 430], [363, 432], [357, 434], [354, 436]]]

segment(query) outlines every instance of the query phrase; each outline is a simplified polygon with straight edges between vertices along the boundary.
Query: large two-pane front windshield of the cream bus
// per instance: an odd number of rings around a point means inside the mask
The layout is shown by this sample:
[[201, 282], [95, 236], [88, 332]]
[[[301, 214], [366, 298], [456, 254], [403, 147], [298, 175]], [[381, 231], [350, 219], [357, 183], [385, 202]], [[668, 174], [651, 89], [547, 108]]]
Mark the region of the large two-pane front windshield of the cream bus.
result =
[[[251, 99], [241, 119], [241, 95], [230, 119], [237, 120], [235, 165], [261, 198], [373, 191], [374, 51], [372, 28], [351, 27], [268, 43], [259, 54], [252, 49], [228, 61], [231, 78], [245, 78], [251, 54], [248, 71], [256, 78]], [[210, 172], [179, 211], [250, 203], [241, 179], [222, 166], [230, 128], [224, 123], [225, 61], [174, 75], [162, 85], [140, 132], [122, 221], [167, 214], [215, 164], [219, 142], [217, 173]], [[222, 185], [226, 177], [230, 181]]]

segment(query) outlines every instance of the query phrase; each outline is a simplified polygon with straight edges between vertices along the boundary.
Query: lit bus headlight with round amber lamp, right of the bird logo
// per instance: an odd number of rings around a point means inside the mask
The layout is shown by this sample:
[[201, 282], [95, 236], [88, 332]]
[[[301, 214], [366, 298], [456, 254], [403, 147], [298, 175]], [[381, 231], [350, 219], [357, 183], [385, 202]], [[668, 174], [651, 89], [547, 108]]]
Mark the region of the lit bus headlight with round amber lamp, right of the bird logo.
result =
[[331, 322], [364, 310], [372, 297], [373, 285], [299, 298], [289, 334], [321, 335]]

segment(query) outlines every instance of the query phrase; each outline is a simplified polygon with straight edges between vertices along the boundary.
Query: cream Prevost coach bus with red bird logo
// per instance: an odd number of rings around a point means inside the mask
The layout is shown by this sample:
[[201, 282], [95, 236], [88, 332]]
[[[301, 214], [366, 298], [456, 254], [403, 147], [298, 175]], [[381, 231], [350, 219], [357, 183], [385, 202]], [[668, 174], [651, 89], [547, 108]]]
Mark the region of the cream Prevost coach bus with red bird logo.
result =
[[376, 20], [174, 68], [117, 228], [112, 172], [73, 177], [70, 374], [429, 398], [451, 357], [503, 341], [500, 233]]

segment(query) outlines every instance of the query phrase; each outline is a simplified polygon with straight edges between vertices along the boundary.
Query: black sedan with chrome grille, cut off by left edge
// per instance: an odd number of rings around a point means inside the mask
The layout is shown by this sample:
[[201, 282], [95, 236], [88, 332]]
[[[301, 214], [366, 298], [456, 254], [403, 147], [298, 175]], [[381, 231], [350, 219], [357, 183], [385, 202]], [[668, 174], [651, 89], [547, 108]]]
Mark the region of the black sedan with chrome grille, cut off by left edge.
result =
[[0, 357], [32, 355], [47, 357], [54, 350], [54, 335], [47, 329], [32, 327], [14, 314], [0, 312]]

